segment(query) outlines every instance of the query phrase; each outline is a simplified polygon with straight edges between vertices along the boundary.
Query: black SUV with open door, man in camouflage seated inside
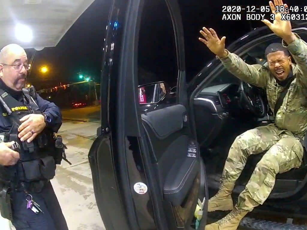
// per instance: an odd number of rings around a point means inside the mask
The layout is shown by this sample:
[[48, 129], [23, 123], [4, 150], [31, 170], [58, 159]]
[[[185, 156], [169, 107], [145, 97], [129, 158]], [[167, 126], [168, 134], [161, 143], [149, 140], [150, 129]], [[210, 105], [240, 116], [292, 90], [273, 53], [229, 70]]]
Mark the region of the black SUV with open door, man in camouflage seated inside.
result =
[[[104, 225], [107, 230], [193, 229], [197, 201], [205, 198], [199, 228], [204, 229], [208, 199], [217, 192], [235, 137], [274, 122], [264, 93], [235, 78], [217, 59], [186, 84], [186, 64], [190, 60], [185, 57], [183, 6], [177, 1], [109, 2], [101, 77], [101, 128], [89, 153]], [[161, 17], [153, 17], [157, 12]], [[292, 25], [293, 32], [307, 41], [307, 23]], [[150, 43], [148, 36], [156, 37], [156, 42]], [[193, 39], [195, 44], [200, 43], [197, 37]], [[272, 42], [281, 39], [262, 27], [240, 37], [227, 49], [247, 63], [266, 65], [264, 50]], [[145, 59], [152, 65], [146, 66]], [[176, 80], [175, 88], [166, 82], [172, 91], [140, 104], [140, 89], [150, 86], [142, 85], [146, 79], [154, 79], [153, 85], [157, 85], [169, 76]], [[169, 94], [175, 100], [165, 105]], [[247, 96], [253, 98], [253, 105]], [[235, 201], [260, 158], [257, 155], [248, 159], [233, 192]], [[307, 218], [306, 174], [305, 163], [299, 169], [278, 174], [268, 200], [251, 214]], [[251, 216], [241, 225], [307, 229], [303, 225], [258, 221]]]

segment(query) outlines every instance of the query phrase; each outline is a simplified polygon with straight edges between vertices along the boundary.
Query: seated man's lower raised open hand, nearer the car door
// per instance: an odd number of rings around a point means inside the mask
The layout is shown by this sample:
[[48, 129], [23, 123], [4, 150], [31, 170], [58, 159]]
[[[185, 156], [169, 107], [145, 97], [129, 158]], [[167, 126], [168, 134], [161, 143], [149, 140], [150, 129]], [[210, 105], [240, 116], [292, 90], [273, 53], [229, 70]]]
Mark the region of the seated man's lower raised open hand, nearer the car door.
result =
[[203, 42], [212, 53], [219, 57], [227, 56], [227, 51], [225, 50], [225, 39], [226, 37], [219, 37], [216, 35], [214, 29], [208, 30], [206, 27], [203, 27], [203, 30], [200, 31], [203, 38], [198, 38], [201, 42]]

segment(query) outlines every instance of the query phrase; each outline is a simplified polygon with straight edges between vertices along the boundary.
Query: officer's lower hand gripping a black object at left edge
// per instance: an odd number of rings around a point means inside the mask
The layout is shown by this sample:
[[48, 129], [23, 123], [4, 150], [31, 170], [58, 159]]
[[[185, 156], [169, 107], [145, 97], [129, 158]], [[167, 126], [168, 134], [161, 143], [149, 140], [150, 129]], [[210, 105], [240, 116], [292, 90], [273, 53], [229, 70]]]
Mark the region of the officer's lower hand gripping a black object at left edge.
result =
[[0, 143], [0, 165], [15, 165], [19, 160], [19, 153], [10, 149], [13, 144], [14, 141]]

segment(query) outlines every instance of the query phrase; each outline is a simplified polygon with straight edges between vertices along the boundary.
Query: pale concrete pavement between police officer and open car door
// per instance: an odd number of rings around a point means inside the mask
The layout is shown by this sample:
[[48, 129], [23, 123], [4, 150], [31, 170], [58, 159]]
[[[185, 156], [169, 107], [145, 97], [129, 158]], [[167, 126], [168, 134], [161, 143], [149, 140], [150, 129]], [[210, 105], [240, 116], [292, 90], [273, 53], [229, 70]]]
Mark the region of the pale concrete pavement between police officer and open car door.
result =
[[[71, 121], [64, 122], [59, 131], [68, 147], [66, 154], [72, 165], [63, 161], [51, 182], [70, 230], [105, 229], [96, 205], [87, 159], [98, 126], [95, 122]], [[7, 221], [0, 219], [1, 230], [10, 229], [5, 227], [6, 224]]]

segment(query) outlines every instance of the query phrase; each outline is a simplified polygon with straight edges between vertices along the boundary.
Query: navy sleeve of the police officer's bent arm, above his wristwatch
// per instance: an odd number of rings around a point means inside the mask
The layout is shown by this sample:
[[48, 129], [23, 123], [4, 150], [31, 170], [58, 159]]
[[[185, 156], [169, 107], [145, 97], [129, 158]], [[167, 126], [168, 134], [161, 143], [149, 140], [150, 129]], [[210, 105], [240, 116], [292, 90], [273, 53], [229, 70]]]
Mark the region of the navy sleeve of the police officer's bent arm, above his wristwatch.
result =
[[62, 114], [60, 108], [53, 102], [49, 102], [40, 95], [37, 95], [37, 106], [42, 113], [46, 113], [51, 117], [50, 128], [53, 132], [58, 132], [62, 125]]

